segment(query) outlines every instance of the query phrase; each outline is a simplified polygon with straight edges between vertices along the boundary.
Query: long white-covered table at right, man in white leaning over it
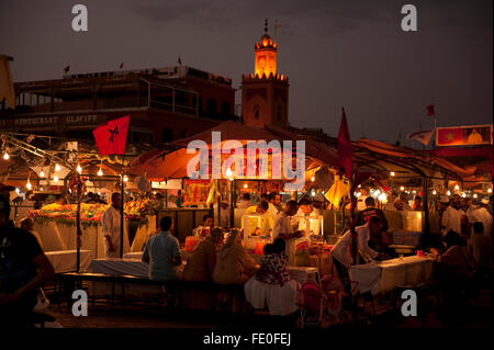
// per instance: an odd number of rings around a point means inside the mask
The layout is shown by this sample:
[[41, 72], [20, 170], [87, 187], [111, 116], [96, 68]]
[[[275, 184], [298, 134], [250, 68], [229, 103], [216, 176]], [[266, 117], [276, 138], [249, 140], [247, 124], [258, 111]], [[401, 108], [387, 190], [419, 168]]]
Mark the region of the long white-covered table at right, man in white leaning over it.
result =
[[431, 280], [436, 260], [405, 257], [350, 267], [350, 280], [357, 281], [360, 293], [372, 295], [392, 292], [395, 286]]

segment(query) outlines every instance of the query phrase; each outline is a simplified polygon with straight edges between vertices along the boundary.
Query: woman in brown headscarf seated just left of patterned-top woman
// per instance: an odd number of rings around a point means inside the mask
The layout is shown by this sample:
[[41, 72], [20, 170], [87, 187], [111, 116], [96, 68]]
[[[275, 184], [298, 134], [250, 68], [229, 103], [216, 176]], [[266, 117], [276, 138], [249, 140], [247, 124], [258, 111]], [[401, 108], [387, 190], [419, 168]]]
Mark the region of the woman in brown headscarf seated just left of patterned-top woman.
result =
[[242, 284], [255, 272], [256, 261], [242, 246], [239, 229], [232, 229], [226, 242], [220, 248], [213, 272], [213, 281], [218, 284]]

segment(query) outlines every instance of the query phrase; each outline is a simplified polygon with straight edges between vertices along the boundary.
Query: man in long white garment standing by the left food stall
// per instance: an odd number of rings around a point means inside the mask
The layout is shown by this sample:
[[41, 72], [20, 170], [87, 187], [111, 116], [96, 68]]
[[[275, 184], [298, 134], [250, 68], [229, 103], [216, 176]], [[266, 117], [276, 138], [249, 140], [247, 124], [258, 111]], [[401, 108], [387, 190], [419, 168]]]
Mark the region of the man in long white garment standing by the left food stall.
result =
[[119, 192], [112, 194], [112, 205], [103, 213], [102, 229], [104, 236], [104, 255], [106, 258], [120, 257], [122, 196]]

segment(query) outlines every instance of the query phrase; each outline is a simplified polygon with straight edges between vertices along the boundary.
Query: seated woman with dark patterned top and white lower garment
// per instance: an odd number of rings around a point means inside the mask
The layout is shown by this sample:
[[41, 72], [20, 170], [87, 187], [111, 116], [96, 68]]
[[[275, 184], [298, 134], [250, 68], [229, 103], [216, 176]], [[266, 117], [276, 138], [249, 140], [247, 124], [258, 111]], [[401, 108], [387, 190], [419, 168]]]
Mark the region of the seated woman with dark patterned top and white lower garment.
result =
[[299, 309], [296, 305], [297, 283], [287, 272], [285, 242], [274, 239], [265, 246], [265, 256], [259, 271], [245, 284], [247, 302], [254, 308], [268, 305], [270, 315], [289, 316]]

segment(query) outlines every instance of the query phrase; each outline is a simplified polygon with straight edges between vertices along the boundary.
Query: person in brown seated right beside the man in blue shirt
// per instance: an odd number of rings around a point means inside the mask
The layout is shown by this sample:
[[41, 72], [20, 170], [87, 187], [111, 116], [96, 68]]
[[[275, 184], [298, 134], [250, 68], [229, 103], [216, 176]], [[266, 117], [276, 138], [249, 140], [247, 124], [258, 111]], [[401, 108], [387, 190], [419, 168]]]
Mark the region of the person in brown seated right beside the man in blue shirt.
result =
[[[206, 239], [192, 251], [183, 269], [184, 281], [212, 281], [216, 264], [216, 247], [223, 240], [223, 229], [214, 227]], [[213, 305], [213, 295], [205, 291], [184, 291], [183, 304], [187, 308], [209, 309]]]

